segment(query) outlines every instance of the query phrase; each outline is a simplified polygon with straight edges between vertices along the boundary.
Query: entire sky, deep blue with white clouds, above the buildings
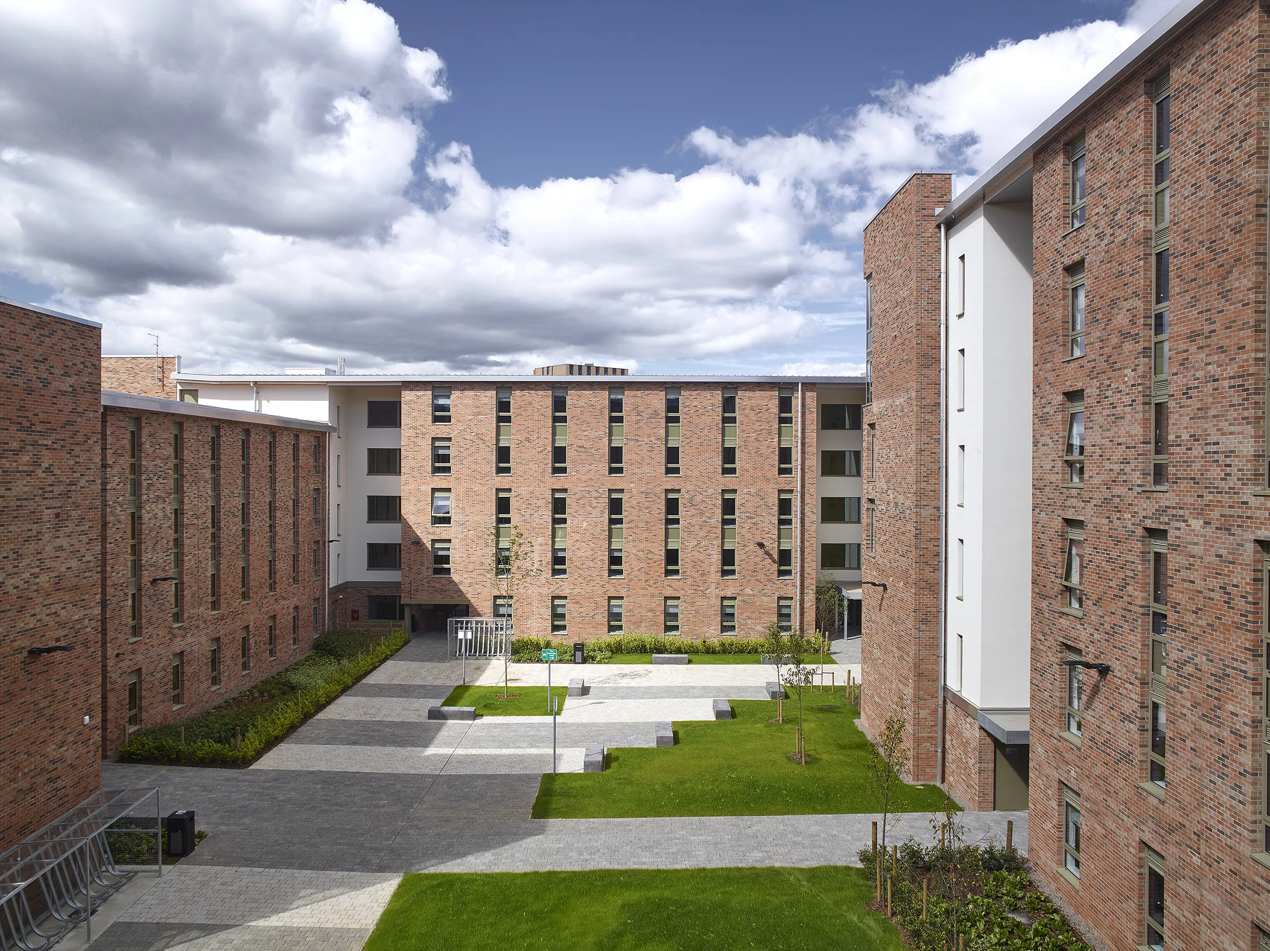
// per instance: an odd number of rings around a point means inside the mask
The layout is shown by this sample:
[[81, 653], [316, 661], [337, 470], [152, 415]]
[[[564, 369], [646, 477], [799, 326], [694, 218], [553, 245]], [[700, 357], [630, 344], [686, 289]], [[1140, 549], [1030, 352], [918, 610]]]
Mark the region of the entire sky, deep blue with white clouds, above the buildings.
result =
[[1168, 3], [0, 6], [0, 295], [192, 368], [853, 373], [876, 207]]

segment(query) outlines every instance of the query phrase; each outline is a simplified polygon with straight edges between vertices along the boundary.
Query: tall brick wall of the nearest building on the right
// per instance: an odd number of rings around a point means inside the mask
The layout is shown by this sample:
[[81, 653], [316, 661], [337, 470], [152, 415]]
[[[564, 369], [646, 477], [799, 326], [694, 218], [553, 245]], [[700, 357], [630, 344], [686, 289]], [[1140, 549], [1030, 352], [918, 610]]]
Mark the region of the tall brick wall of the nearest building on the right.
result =
[[[1144, 849], [1166, 867], [1167, 946], [1255, 947], [1270, 868], [1264, 806], [1261, 549], [1266, 307], [1266, 14], [1208, 11], [1034, 155], [1034, 579], [1030, 857], [1113, 948], [1143, 942]], [[1171, 71], [1166, 491], [1152, 490], [1152, 99]], [[1068, 232], [1064, 142], [1087, 142], [1087, 222]], [[1067, 358], [1067, 276], [1085, 259], [1086, 356]], [[1063, 394], [1085, 390], [1086, 477], [1064, 488]], [[1083, 616], [1064, 613], [1063, 519], [1085, 522]], [[1167, 788], [1148, 780], [1147, 528], [1168, 532]], [[1064, 645], [1087, 673], [1064, 729]], [[1081, 796], [1081, 876], [1064, 877], [1062, 786]]]

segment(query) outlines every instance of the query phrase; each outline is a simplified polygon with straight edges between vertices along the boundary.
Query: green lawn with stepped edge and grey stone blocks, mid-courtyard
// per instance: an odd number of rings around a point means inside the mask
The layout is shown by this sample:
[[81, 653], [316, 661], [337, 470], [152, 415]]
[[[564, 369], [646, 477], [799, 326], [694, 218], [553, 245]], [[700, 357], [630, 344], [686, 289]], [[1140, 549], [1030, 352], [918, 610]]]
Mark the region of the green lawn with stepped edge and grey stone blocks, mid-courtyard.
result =
[[[785, 701], [784, 724], [771, 722], [776, 701], [738, 700], [732, 708], [734, 720], [676, 722], [674, 747], [610, 749], [602, 773], [545, 775], [533, 818], [880, 811], [866, 766], [869, 740], [842, 687], [833, 696], [804, 693], [806, 766], [790, 759], [798, 719], [792, 698]], [[903, 786], [897, 806], [925, 813], [942, 801], [937, 786]]]

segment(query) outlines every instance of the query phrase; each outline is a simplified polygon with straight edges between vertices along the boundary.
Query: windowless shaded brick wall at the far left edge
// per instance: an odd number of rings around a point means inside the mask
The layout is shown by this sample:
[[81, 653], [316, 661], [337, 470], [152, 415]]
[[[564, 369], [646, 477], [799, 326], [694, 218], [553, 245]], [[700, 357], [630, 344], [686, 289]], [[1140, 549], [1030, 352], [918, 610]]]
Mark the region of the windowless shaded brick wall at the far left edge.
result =
[[[0, 302], [0, 849], [100, 787], [97, 326]], [[67, 653], [30, 655], [61, 645]], [[83, 717], [91, 717], [85, 725]]]

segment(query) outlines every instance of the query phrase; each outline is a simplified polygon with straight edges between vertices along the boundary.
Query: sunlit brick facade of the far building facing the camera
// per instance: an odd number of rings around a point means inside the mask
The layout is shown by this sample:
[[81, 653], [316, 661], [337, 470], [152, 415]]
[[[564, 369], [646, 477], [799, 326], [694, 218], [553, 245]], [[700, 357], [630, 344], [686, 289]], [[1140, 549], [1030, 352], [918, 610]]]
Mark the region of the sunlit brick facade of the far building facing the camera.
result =
[[[682, 475], [664, 475], [665, 383], [630, 377], [603, 382], [555, 378], [512, 386], [512, 475], [494, 475], [495, 386], [456, 382], [453, 424], [433, 425], [432, 387], [401, 387], [401, 595], [419, 601], [469, 601], [472, 615], [493, 606], [490, 528], [494, 491], [512, 490], [512, 522], [532, 540], [541, 575], [516, 597], [517, 634], [550, 632], [550, 598], [569, 598], [569, 636], [607, 631], [607, 598], [625, 598], [630, 632], [663, 630], [663, 598], [681, 598], [685, 636], [718, 636], [720, 598], [737, 598], [737, 634], [761, 636], [776, 618], [779, 597], [795, 597], [794, 579], [777, 579], [777, 491], [796, 490], [795, 476], [777, 475], [776, 383], [739, 383], [738, 475], [721, 472], [720, 383], [683, 383]], [[551, 475], [551, 391], [569, 389], [569, 474]], [[625, 475], [608, 475], [610, 386], [625, 389]], [[796, 408], [795, 408], [796, 411]], [[815, 395], [804, 389], [803, 616], [814, 625], [815, 582]], [[453, 475], [431, 474], [431, 441], [452, 439]], [[453, 526], [431, 526], [431, 490], [453, 491]], [[569, 576], [551, 578], [551, 490], [569, 491]], [[625, 578], [607, 576], [607, 496], [625, 490]], [[682, 570], [665, 578], [664, 493], [682, 493]], [[738, 496], [737, 578], [720, 578], [721, 493]], [[433, 538], [452, 541], [450, 578], [431, 574]], [[418, 545], [413, 542], [418, 541]], [[756, 542], [762, 541], [770, 557]]]

